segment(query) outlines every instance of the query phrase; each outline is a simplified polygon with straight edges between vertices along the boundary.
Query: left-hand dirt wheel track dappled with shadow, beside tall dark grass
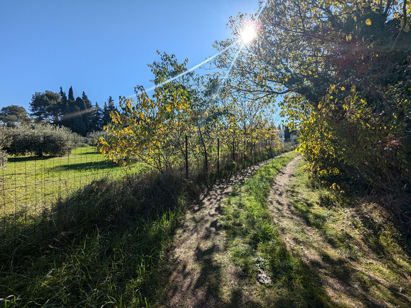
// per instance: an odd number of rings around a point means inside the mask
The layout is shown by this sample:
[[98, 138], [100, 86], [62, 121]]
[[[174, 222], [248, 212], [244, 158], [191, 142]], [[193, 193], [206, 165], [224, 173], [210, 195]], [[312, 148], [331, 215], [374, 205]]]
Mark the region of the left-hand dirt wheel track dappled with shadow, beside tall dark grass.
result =
[[217, 303], [217, 297], [231, 297], [226, 292], [235, 288], [236, 277], [241, 273], [226, 255], [225, 237], [220, 232], [219, 204], [234, 185], [242, 183], [252, 172], [271, 160], [241, 170], [216, 184], [187, 213], [184, 224], [174, 236], [174, 246], [167, 262], [171, 265], [164, 301], [167, 306], [212, 307]]

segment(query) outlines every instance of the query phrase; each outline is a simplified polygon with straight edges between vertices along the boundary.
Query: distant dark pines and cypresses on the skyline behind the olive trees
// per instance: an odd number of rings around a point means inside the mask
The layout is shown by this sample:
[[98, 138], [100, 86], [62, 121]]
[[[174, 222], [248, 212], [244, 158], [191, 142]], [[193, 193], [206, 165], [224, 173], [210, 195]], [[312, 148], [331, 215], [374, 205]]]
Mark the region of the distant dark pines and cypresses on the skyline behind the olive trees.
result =
[[13, 128], [22, 125], [48, 123], [65, 126], [74, 133], [86, 136], [92, 131], [101, 131], [111, 122], [110, 113], [116, 111], [111, 96], [104, 102], [103, 108], [97, 102], [93, 105], [85, 92], [74, 98], [70, 87], [68, 96], [60, 87], [60, 92], [46, 90], [35, 92], [30, 102], [30, 116], [24, 107], [10, 105], [1, 108], [0, 124]]

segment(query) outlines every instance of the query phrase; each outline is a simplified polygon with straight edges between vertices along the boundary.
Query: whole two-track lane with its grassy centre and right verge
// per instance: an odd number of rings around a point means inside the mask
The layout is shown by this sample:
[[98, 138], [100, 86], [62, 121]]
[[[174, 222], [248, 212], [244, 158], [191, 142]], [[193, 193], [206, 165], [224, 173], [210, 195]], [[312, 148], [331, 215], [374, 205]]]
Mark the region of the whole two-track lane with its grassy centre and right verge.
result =
[[159, 306], [409, 307], [395, 228], [301, 166], [288, 153], [206, 193], [175, 234]]

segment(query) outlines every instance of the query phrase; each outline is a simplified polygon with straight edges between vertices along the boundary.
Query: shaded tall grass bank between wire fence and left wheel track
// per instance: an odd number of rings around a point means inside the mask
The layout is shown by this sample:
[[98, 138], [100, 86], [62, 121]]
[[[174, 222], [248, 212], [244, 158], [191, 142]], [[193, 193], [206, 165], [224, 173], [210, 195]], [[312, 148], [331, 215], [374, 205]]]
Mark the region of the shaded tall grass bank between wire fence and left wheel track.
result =
[[103, 178], [59, 200], [24, 225], [25, 235], [0, 243], [0, 306], [151, 306], [173, 230], [207, 181], [183, 172]]

